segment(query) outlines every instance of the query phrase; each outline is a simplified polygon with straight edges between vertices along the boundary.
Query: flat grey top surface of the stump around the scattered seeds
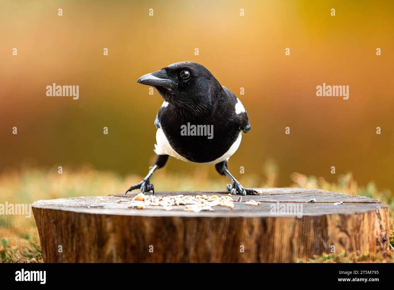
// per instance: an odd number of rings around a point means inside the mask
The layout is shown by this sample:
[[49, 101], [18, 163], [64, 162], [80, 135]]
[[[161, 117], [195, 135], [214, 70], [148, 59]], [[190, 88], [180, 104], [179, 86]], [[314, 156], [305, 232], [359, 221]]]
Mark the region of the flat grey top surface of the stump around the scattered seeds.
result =
[[[321, 189], [301, 189], [301, 188], [262, 188], [260, 195], [242, 196], [241, 202], [236, 202], [240, 195], [234, 195], [234, 208], [224, 206], [214, 206], [213, 211], [190, 212], [184, 211], [185, 206], [172, 206], [171, 211], [165, 211], [161, 206], [146, 206], [139, 210], [128, 208], [128, 203], [117, 203], [120, 199], [130, 201], [138, 192], [132, 194], [114, 194], [100, 196], [104, 201], [99, 201], [98, 196], [80, 196], [59, 198], [54, 200], [38, 200], [33, 203], [33, 208], [46, 208], [52, 210], [74, 211], [77, 213], [97, 213], [108, 215], [137, 215], [137, 216], [184, 216], [184, 217], [267, 217], [272, 216], [271, 208], [273, 203], [301, 203], [303, 207], [302, 215], [325, 215], [325, 214], [352, 214], [357, 212], [374, 211], [377, 206], [385, 208], [379, 200], [366, 196], [348, 195], [344, 193], [333, 193]], [[147, 193], [148, 195], [151, 193]], [[228, 195], [227, 191], [177, 191], [177, 192], [156, 192], [154, 196], [175, 196], [175, 195]], [[316, 199], [314, 203], [306, 203], [311, 199]], [[258, 206], [245, 204], [249, 200], [261, 202]], [[343, 202], [343, 204], [334, 204]], [[280, 215], [278, 213], [277, 215]], [[286, 214], [289, 216], [289, 213]], [[294, 214], [295, 215], [295, 214]], [[291, 216], [291, 214], [290, 214]]]

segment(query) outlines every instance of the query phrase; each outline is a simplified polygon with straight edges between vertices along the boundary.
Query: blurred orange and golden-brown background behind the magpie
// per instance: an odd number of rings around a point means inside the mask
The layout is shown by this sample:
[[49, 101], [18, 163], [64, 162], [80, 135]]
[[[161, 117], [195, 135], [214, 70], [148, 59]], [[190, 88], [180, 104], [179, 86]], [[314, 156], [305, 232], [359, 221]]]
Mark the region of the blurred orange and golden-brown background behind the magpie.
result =
[[[0, 19], [0, 202], [111, 194], [138, 182], [154, 161], [163, 100], [136, 80], [185, 60], [207, 67], [247, 109], [252, 130], [229, 161], [245, 187], [392, 196], [392, 1], [3, 0]], [[323, 82], [348, 85], [349, 99], [317, 97]], [[79, 99], [46, 96], [52, 83], [79, 85]], [[151, 181], [156, 190], [227, 183], [213, 166], [174, 158]], [[28, 230], [13, 232], [37, 240], [34, 221], [24, 222]]]

